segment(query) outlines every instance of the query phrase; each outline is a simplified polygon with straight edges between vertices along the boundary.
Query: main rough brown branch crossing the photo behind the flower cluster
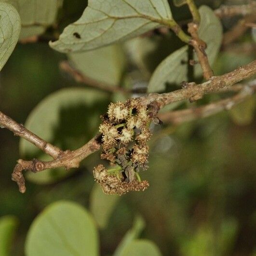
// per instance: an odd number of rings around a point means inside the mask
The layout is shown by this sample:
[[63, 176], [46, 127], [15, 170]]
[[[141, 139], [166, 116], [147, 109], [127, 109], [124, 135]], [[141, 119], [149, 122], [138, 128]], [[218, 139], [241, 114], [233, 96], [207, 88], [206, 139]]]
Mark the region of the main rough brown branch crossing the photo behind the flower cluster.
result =
[[[202, 98], [204, 94], [223, 91], [225, 88], [228, 88], [234, 83], [247, 79], [254, 74], [256, 74], [256, 61], [253, 61], [243, 67], [239, 67], [238, 69], [225, 75], [212, 77], [209, 81], [202, 84], [185, 83], [183, 84], [183, 89], [165, 94], [148, 94], [140, 97], [140, 100], [143, 105], [148, 106], [149, 116], [153, 119], [162, 107], [172, 102], [185, 99], [189, 99], [190, 101], [198, 100]], [[30, 170], [36, 173], [49, 168], [76, 168], [84, 158], [98, 150], [102, 144], [101, 135], [97, 135], [83, 147], [77, 150], [62, 151], [50, 143], [45, 142], [37, 135], [29, 132], [22, 125], [13, 121], [11, 118], [7, 117], [1, 112], [0, 125], [13, 131], [15, 135], [25, 138], [27, 141], [33, 143], [44, 152], [54, 157], [54, 160], [49, 162], [43, 162], [36, 159], [32, 161], [24, 161], [21, 159], [18, 160], [18, 163], [13, 170], [12, 179], [17, 182], [19, 190], [22, 193], [26, 191], [25, 179], [22, 174], [24, 170]]]

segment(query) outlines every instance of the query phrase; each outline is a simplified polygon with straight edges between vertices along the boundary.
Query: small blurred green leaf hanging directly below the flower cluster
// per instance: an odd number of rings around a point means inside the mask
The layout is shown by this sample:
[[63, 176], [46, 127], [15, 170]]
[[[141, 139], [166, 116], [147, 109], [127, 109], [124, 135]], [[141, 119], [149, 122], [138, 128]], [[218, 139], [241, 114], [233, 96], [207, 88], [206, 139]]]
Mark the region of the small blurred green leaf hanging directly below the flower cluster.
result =
[[90, 211], [101, 229], [107, 227], [109, 217], [119, 199], [118, 195], [106, 195], [100, 185], [94, 184], [91, 192]]

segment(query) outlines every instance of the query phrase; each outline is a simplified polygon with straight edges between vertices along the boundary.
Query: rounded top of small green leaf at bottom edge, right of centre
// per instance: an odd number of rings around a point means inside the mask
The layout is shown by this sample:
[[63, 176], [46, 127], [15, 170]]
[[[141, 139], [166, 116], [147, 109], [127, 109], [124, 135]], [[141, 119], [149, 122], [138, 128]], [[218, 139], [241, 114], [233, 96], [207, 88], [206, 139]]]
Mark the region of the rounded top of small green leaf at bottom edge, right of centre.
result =
[[159, 248], [155, 243], [146, 239], [135, 239], [125, 247], [121, 256], [161, 256]]

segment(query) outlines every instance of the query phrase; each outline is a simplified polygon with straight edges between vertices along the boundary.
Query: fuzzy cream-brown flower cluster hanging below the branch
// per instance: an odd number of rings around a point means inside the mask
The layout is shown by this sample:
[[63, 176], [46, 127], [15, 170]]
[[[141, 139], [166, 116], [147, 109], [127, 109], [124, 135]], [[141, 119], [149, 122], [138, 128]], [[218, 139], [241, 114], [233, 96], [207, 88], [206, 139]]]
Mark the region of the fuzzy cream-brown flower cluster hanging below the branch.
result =
[[109, 105], [99, 127], [103, 143], [101, 158], [114, 168], [106, 170], [103, 165], [94, 168], [94, 178], [105, 193], [124, 194], [148, 187], [138, 173], [148, 168], [149, 124], [147, 107], [139, 99]]

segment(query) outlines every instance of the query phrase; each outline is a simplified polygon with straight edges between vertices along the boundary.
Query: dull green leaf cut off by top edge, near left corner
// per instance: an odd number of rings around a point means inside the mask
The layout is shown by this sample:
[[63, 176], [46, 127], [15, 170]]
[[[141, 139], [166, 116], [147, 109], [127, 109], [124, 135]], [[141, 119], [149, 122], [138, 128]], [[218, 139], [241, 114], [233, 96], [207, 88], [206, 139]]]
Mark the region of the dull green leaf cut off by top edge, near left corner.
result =
[[63, 0], [2, 0], [12, 4], [21, 17], [20, 39], [42, 34], [56, 19]]

